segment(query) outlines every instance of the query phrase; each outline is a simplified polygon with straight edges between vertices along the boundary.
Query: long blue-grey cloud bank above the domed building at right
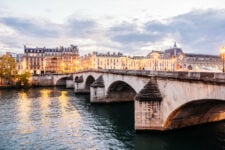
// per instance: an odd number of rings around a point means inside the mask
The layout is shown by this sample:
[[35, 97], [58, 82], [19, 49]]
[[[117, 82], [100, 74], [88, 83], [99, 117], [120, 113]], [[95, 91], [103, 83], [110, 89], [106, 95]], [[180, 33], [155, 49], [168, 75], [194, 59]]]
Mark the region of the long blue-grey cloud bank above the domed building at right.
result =
[[[123, 26], [126, 27], [124, 24], [117, 27], [121, 29], [119, 30], [121, 34], [118, 34], [117, 30], [112, 30], [113, 28], [110, 30], [113, 34], [111, 39], [124, 45], [136, 46], [136, 50], [138, 47], [145, 47], [146, 43], [147, 45], [159, 43], [168, 38], [182, 45], [184, 51], [196, 53], [217, 54], [218, 47], [225, 44], [225, 10], [193, 10], [163, 22], [150, 20], [144, 23], [142, 32], [137, 28], [124, 32], [127, 29], [123, 31]], [[173, 43], [170, 44], [172, 46]]]

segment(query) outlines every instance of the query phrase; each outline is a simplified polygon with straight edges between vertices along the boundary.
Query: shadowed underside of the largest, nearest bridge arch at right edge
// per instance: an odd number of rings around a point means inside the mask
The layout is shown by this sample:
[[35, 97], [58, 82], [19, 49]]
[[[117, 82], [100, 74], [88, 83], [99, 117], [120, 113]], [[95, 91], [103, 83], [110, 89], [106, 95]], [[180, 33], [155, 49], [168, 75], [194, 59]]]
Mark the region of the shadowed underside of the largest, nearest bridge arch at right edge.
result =
[[225, 119], [225, 101], [201, 99], [187, 102], [167, 118], [164, 128], [174, 129]]

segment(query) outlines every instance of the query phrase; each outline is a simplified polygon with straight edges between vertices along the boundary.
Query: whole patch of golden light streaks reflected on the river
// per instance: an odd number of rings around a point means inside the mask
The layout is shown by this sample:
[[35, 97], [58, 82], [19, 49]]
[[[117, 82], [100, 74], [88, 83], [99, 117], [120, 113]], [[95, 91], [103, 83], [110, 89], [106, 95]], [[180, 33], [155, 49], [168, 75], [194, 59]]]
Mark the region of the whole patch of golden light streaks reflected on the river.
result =
[[[54, 129], [56, 133], [60, 133], [61, 138], [58, 140], [63, 140], [68, 146], [73, 145], [72, 137], [82, 139], [80, 134], [82, 118], [69, 98], [68, 91], [41, 89], [38, 92], [40, 94], [37, 97], [30, 97], [26, 92], [18, 93], [18, 134], [29, 134], [40, 129], [41, 134], [48, 137], [49, 134], [53, 134], [50, 129]], [[91, 142], [91, 139], [86, 140]], [[76, 148], [79, 149], [79, 146]]]

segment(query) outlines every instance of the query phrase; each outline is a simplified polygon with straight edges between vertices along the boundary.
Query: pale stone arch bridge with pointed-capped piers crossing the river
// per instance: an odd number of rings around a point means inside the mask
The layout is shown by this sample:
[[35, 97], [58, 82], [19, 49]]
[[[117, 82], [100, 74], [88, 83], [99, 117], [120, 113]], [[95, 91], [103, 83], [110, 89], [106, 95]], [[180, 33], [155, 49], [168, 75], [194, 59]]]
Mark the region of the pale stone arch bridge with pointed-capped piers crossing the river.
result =
[[89, 70], [73, 75], [91, 103], [135, 101], [136, 130], [169, 130], [225, 119], [225, 74]]

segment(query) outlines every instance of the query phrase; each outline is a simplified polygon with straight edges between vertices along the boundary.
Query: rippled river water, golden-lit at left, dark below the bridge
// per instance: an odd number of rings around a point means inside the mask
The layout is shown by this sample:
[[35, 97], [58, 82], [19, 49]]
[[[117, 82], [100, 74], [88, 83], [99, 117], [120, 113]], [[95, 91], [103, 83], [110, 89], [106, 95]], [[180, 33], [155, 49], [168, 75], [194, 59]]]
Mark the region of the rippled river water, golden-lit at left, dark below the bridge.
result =
[[91, 105], [64, 88], [0, 91], [0, 149], [225, 150], [225, 122], [135, 133], [134, 104]]

